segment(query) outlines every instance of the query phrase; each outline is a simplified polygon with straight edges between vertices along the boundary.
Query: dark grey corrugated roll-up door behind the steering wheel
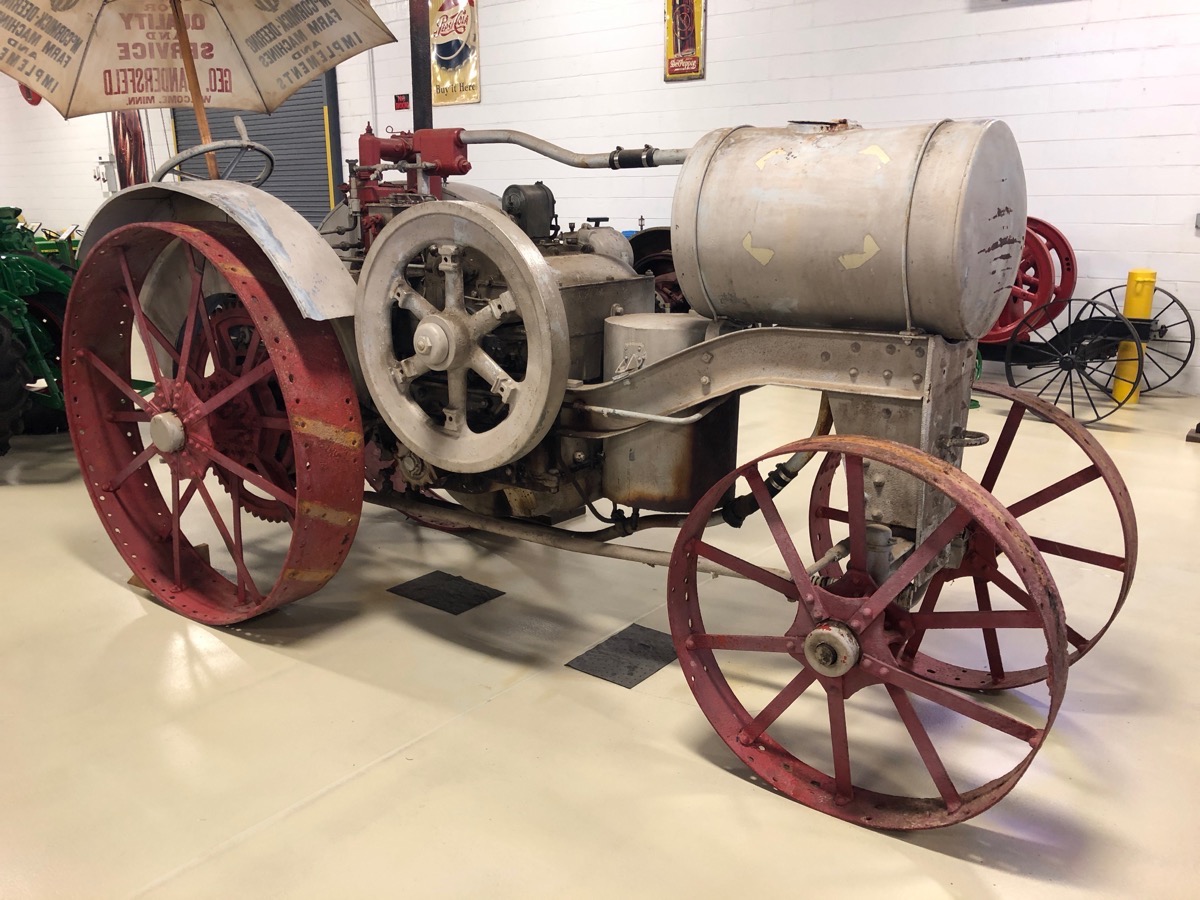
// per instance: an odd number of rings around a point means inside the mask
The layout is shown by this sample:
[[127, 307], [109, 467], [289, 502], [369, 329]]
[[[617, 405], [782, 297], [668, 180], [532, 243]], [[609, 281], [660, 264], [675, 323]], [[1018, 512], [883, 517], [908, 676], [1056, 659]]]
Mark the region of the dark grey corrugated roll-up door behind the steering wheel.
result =
[[[329, 214], [329, 156], [325, 149], [325, 86], [324, 79], [310, 82], [271, 115], [260, 113], [234, 113], [229, 109], [209, 110], [209, 130], [214, 140], [232, 140], [238, 137], [234, 115], [240, 115], [250, 132], [250, 139], [265, 144], [275, 154], [275, 173], [263, 185], [314, 226]], [[200, 143], [196, 113], [191, 109], [174, 110], [175, 137], [181, 149]], [[221, 170], [235, 156], [235, 151], [217, 154]], [[204, 158], [199, 157], [184, 167], [187, 172], [208, 178]], [[258, 154], [246, 154], [235, 179], [248, 179], [262, 168]]]

